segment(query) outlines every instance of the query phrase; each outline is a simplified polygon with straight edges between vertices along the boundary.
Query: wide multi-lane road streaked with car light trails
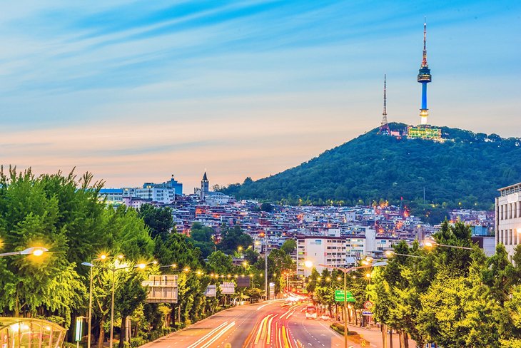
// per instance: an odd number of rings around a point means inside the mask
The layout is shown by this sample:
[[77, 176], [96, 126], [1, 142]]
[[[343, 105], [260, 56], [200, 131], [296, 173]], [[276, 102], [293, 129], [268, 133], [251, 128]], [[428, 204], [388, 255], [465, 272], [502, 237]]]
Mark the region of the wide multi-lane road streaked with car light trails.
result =
[[[306, 319], [304, 308], [280, 300], [234, 307], [143, 348], [343, 348], [343, 337], [329, 328], [330, 322]], [[351, 337], [349, 347], [381, 347], [380, 332], [350, 329], [367, 341]]]

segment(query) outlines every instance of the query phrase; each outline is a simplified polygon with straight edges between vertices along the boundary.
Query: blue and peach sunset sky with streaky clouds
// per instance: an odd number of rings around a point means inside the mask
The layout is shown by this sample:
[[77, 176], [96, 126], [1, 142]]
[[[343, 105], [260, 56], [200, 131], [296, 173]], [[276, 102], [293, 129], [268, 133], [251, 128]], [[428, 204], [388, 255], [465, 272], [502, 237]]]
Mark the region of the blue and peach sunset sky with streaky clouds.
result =
[[521, 1], [3, 1], [0, 163], [191, 193], [388, 121], [521, 136]]

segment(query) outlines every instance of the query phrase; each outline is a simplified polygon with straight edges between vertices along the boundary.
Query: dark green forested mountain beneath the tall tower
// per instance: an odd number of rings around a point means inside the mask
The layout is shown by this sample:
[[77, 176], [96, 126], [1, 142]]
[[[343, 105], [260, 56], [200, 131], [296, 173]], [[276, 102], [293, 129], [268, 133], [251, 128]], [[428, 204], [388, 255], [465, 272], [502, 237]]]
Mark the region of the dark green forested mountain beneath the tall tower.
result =
[[[405, 128], [402, 123], [391, 129]], [[378, 128], [308, 162], [221, 191], [305, 205], [355, 205], [388, 200], [413, 209], [483, 208], [497, 189], [521, 181], [521, 140], [442, 128], [445, 142], [378, 135]], [[425, 205], [423, 195], [425, 188]], [[429, 214], [429, 211], [426, 214]]]

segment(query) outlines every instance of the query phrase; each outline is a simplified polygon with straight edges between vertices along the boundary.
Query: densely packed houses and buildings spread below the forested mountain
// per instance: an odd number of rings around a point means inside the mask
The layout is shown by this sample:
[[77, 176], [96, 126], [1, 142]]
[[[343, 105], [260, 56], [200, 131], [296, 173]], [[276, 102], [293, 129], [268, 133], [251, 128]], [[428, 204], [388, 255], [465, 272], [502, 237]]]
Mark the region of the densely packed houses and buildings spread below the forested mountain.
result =
[[[323, 255], [330, 252], [328, 245], [333, 240], [342, 241], [335, 245], [342, 248], [340, 257], [329, 257], [329, 261], [327, 257], [324, 260], [317, 259], [319, 263], [353, 265], [366, 255], [382, 256], [385, 250], [391, 249], [399, 240], [422, 241], [440, 227], [411, 215], [408, 208], [389, 205], [387, 202], [348, 207], [237, 201], [223, 193], [211, 191], [206, 173], [201, 188], [197, 188], [191, 195], [178, 194], [175, 190], [172, 193], [169, 183], [145, 183], [143, 188], [102, 189], [101, 195], [106, 203], [113, 205], [125, 204], [139, 208], [143, 204], [152, 204], [168, 207], [177, 232], [190, 235], [191, 226], [198, 222], [213, 229], [215, 242], [221, 240], [223, 227], [239, 225], [253, 238], [252, 247], [261, 254], [280, 248], [288, 239], [297, 240], [298, 250], [294, 255], [297, 263], [301, 263], [300, 259], [304, 255], [310, 256], [309, 250], [317, 249], [317, 240], [320, 240], [318, 245], [325, 248]], [[148, 190], [151, 195], [144, 197], [143, 190]], [[172, 194], [161, 196], [156, 192], [158, 190], [168, 190]], [[472, 225], [475, 235], [492, 235], [494, 212], [452, 210], [447, 217], [450, 222], [461, 220]], [[298, 272], [304, 274], [303, 269]]]

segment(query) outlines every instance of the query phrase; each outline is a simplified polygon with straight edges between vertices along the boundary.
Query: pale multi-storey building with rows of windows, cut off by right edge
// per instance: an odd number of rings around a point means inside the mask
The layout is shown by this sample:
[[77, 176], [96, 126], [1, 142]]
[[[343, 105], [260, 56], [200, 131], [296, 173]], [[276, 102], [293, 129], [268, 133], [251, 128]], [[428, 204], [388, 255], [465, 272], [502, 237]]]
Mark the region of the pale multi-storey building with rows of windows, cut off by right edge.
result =
[[514, 249], [521, 244], [521, 183], [500, 188], [496, 203], [496, 245], [502, 243], [510, 261]]

